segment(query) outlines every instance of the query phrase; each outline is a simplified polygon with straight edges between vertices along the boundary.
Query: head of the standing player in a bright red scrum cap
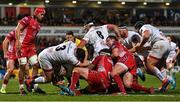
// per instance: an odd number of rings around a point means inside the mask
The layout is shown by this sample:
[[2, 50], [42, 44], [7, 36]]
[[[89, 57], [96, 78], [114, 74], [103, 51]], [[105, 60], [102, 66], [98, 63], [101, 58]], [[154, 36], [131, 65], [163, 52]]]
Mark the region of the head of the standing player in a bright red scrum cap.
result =
[[34, 10], [34, 17], [38, 20], [38, 22], [41, 22], [44, 18], [46, 11], [43, 7], [37, 7]]

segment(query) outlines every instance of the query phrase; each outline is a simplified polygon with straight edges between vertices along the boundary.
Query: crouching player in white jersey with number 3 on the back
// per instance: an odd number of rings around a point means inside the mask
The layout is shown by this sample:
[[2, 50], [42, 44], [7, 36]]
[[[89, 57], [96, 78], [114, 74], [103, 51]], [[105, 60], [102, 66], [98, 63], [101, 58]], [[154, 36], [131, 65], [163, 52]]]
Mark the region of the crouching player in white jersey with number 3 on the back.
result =
[[25, 81], [28, 91], [32, 91], [33, 84], [47, 83], [53, 79], [53, 74], [59, 66], [65, 64], [73, 64], [75, 66], [87, 66], [88, 63], [83, 63], [85, 58], [85, 51], [77, 48], [76, 44], [68, 41], [57, 46], [52, 46], [44, 49], [38, 56], [41, 68], [45, 76], [40, 76], [34, 80], [28, 79]]

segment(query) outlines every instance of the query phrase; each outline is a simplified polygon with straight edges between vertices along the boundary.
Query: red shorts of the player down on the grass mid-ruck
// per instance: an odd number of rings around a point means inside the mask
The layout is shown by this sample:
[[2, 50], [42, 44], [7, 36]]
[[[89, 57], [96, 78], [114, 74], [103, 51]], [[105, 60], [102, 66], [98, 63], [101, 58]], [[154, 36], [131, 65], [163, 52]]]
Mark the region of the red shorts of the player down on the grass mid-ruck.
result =
[[93, 70], [89, 70], [87, 81], [91, 88], [96, 91], [107, 89], [110, 86], [110, 81], [106, 77]]

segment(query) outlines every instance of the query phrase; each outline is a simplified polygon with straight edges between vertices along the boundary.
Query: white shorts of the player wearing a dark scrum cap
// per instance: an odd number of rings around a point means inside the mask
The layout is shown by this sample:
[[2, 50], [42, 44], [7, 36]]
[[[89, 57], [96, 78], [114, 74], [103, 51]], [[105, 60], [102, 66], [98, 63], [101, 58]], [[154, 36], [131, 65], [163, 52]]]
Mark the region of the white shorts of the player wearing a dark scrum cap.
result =
[[156, 59], [161, 59], [166, 53], [168, 54], [169, 50], [170, 50], [169, 42], [165, 40], [159, 40], [153, 44], [149, 56]]

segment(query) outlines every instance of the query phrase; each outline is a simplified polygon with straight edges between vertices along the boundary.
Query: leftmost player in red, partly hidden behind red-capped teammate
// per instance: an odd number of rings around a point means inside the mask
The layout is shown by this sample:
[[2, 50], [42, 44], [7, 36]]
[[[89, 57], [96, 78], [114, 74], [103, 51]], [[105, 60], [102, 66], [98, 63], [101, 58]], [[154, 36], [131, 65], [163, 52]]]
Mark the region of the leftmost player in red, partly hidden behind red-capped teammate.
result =
[[[16, 42], [15, 31], [11, 31], [3, 41], [3, 52], [4, 52], [4, 58], [7, 60], [7, 62], [6, 62], [7, 71], [3, 78], [3, 83], [2, 83], [1, 90], [0, 90], [1, 93], [6, 93], [6, 86], [8, 84], [10, 75], [15, 68], [14, 65], [17, 60], [15, 42]], [[29, 67], [27, 64], [26, 75], [29, 74], [28, 68]]]

